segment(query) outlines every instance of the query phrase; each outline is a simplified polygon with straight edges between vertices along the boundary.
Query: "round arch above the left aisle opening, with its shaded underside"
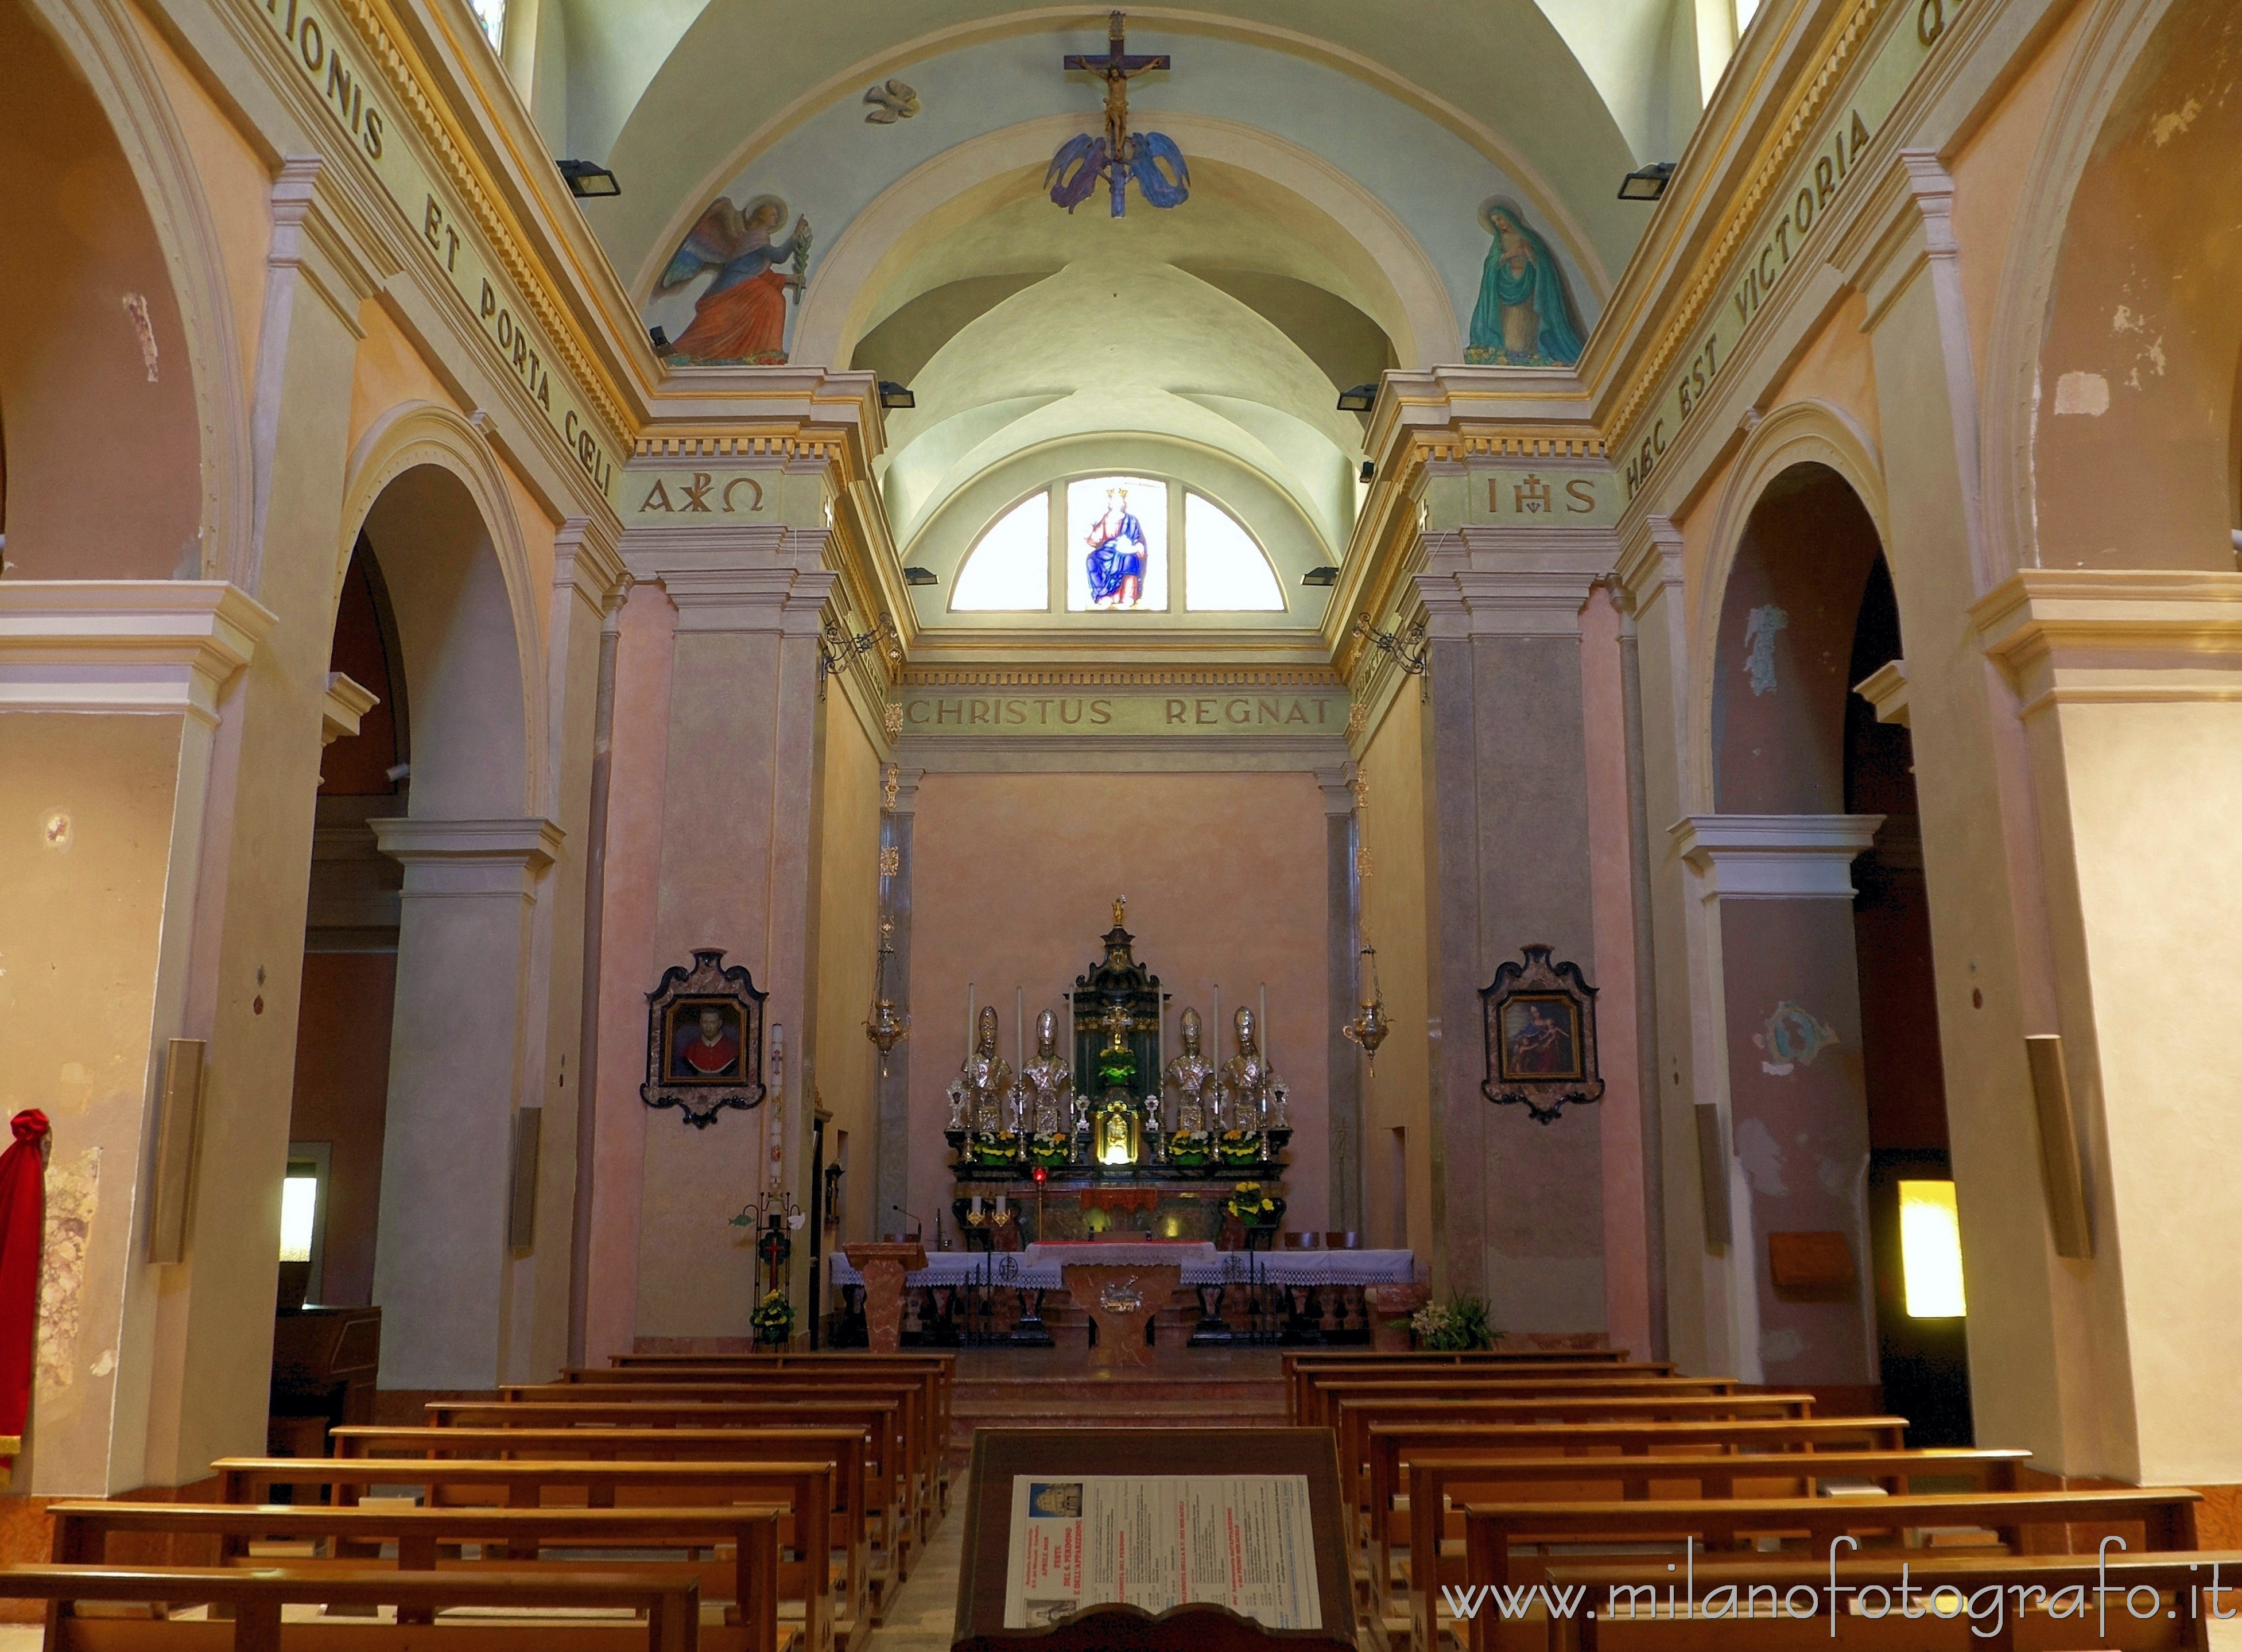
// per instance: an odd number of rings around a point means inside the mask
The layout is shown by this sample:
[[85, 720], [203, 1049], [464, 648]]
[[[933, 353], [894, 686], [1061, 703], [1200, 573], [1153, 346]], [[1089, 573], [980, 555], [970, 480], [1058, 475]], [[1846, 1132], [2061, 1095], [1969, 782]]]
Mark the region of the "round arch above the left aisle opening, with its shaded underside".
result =
[[[487, 798], [475, 807], [484, 814], [536, 816], [543, 814], [540, 800], [547, 793], [549, 753], [543, 690], [545, 639], [538, 628], [529, 551], [522, 542], [520, 522], [513, 516], [498, 460], [491, 455], [482, 433], [453, 408], [433, 401], [408, 401], [377, 419], [359, 439], [343, 482], [343, 531], [334, 556], [334, 601], [341, 601], [352, 547], [361, 533], [372, 536], [379, 531], [379, 513], [383, 502], [392, 498], [392, 489], [410, 482], [415, 473], [428, 471], [442, 473], [457, 498], [446, 502], [439, 489], [421, 489], [417, 504], [444, 516], [451, 527], [448, 533], [430, 536], [426, 556], [457, 556], [460, 549], [466, 549], [466, 558], [473, 560], [478, 549], [487, 549], [491, 567], [487, 578], [478, 578], [478, 569], [473, 567], [410, 567], [415, 558], [399, 558], [395, 549], [383, 554], [381, 540], [374, 540], [374, 554], [383, 558], [383, 578], [390, 583], [392, 601], [399, 607], [399, 632], [408, 670], [413, 670], [415, 648], [430, 641], [426, 632], [435, 616], [426, 607], [435, 603], [448, 603], [448, 614], [442, 616], [442, 623], [464, 625], [473, 632], [471, 639], [460, 639], [469, 641], [471, 648], [478, 643], [489, 648], [493, 641], [504, 643], [504, 650], [513, 659], [509, 686], [513, 688], [511, 704], [518, 708], [518, 717], [500, 722], [498, 728], [482, 726], [478, 733], [484, 744], [491, 744], [495, 737], [500, 744], [511, 742], [516, 746], [511, 753], [487, 751], [487, 755], [513, 758], [513, 762], [493, 767], [493, 773], [513, 769], [518, 787], [509, 782], [504, 787], [509, 796]], [[448, 511], [448, 504], [464, 507], [473, 516], [473, 531], [480, 533], [480, 545], [466, 540], [462, 547], [469, 525], [457, 511]], [[415, 583], [424, 583], [424, 592], [415, 594]], [[442, 590], [437, 583], [442, 583]], [[413, 610], [421, 612], [415, 614]], [[424, 634], [417, 637], [415, 630]], [[439, 713], [433, 706], [433, 695], [424, 695], [417, 681], [413, 684], [413, 702], [419, 726], [433, 728]], [[415, 749], [421, 749], [419, 740]], [[415, 814], [419, 814], [421, 800], [433, 809], [466, 811], [455, 800], [442, 796], [442, 789], [430, 796], [415, 787]]]

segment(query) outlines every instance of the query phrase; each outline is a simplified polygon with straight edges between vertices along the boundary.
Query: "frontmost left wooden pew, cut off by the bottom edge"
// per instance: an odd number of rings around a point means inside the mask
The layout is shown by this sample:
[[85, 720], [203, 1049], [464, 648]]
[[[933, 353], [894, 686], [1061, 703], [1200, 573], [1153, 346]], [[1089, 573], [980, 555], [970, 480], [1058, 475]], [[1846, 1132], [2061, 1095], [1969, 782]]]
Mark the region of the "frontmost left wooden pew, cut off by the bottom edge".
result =
[[[641, 1612], [643, 1623], [520, 1623], [430, 1632], [417, 1623], [374, 1618], [291, 1623], [287, 1652], [426, 1652], [433, 1643], [475, 1652], [700, 1652], [700, 1585], [657, 1571], [558, 1571], [507, 1567], [491, 1571], [348, 1571], [294, 1567], [7, 1567], [0, 1600], [49, 1600], [56, 1612], [47, 1652], [280, 1652], [280, 1609], [291, 1605], [386, 1607], [433, 1614], [446, 1607], [518, 1612]], [[132, 1623], [81, 1618], [87, 1600], [197, 1600], [231, 1623]]]

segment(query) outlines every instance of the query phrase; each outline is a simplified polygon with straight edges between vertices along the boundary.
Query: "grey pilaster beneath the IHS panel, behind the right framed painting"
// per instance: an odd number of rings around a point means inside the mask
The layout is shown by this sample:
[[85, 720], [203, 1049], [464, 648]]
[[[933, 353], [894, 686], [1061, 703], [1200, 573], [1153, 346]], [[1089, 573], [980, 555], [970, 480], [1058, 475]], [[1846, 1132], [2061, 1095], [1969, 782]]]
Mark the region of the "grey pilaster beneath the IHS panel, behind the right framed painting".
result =
[[[1444, 498], [1435, 482], [1435, 520]], [[1430, 531], [1417, 576], [1433, 672], [1446, 1289], [1486, 1296], [1504, 1331], [1605, 1329], [1599, 1112], [1540, 1125], [1480, 1094], [1480, 989], [1529, 944], [1596, 980], [1581, 605], [1614, 554], [1608, 529], [1471, 522]]]

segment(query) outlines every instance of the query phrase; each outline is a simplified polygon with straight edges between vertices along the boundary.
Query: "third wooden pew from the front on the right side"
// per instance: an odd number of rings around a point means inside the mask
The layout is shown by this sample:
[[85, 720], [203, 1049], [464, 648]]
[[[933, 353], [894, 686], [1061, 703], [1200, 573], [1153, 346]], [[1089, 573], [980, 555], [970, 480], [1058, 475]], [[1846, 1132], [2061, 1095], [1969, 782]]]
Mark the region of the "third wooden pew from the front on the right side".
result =
[[[1469, 1502], [1648, 1502], [1652, 1497], [1816, 1497], [1832, 1479], [1872, 1482], [1908, 1495], [1919, 1479], [1960, 1479], [1968, 1491], [2016, 1491], [2027, 1450], [1816, 1450], [1758, 1457], [1410, 1457], [1406, 1509], [1372, 1504], [1374, 1605], [1408, 1625], [1412, 1645], [1437, 1645], [1442, 1585], [1462, 1587]], [[1688, 1486], [1690, 1491], [1682, 1491]], [[1939, 1488], [1951, 1491], [1951, 1488]], [[1395, 1580], [1403, 1571], [1401, 1598]]]

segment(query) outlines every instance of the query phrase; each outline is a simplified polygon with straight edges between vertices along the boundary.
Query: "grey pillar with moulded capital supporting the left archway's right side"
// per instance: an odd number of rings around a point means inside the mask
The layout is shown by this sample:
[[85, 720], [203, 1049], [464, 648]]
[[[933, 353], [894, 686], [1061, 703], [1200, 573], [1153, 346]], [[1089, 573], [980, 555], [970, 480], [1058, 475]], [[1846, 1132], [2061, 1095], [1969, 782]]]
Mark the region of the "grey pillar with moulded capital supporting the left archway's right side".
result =
[[381, 1141], [381, 1388], [507, 1374], [507, 1188], [525, 1101], [531, 924], [560, 854], [552, 820], [370, 820], [406, 867]]

